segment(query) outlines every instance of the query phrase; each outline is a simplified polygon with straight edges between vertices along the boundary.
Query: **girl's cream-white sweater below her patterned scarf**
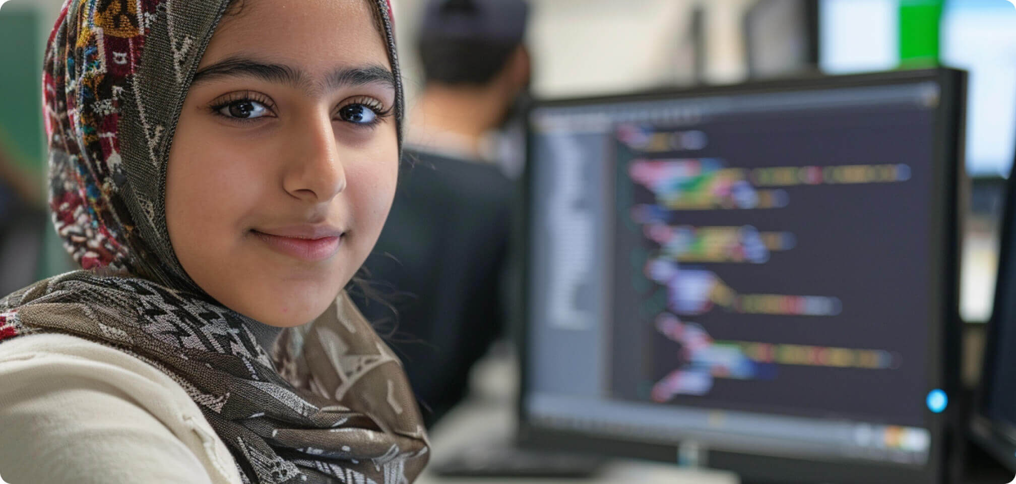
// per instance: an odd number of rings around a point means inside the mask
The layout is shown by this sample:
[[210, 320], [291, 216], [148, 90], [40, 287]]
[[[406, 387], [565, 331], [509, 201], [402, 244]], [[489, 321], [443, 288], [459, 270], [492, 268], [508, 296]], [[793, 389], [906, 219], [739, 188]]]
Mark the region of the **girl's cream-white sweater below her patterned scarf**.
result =
[[0, 343], [0, 477], [10, 484], [240, 484], [197, 405], [133, 356], [65, 335]]

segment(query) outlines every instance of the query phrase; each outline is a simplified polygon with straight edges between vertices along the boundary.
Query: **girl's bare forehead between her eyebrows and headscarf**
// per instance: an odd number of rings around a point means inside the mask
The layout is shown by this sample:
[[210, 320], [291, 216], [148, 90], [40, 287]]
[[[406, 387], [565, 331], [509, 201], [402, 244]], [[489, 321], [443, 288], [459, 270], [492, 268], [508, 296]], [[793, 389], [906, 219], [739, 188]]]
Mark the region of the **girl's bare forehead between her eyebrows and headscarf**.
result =
[[372, 0], [236, 0], [199, 67], [258, 57], [323, 72], [343, 63], [389, 66]]

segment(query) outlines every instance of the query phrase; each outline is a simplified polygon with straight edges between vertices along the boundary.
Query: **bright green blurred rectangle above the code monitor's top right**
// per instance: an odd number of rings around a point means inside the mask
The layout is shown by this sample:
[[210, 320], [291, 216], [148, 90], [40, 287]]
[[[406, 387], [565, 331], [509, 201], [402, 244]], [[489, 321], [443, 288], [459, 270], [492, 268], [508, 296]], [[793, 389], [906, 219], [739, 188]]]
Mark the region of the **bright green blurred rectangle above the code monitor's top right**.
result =
[[900, 0], [899, 66], [920, 68], [939, 64], [939, 32], [943, 0]]

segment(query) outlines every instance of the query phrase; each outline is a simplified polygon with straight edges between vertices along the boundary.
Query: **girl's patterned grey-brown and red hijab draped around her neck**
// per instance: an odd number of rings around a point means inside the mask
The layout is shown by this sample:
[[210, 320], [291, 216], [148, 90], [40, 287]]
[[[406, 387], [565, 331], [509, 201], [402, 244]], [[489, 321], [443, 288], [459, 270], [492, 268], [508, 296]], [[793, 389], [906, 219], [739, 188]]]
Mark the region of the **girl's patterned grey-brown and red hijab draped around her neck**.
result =
[[[391, 10], [375, 5], [395, 78]], [[411, 482], [428, 460], [401, 364], [343, 292], [262, 348], [260, 324], [187, 276], [166, 225], [166, 169], [184, 98], [230, 0], [67, 0], [44, 78], [51, 208], [84, 269], [0, 301], [0, 343], [64, 332], [173, 377], [245, 483]], [[396, 120], [401, 120], [401, 85]], [[143, 480], [143, 479], [142, 479]]]

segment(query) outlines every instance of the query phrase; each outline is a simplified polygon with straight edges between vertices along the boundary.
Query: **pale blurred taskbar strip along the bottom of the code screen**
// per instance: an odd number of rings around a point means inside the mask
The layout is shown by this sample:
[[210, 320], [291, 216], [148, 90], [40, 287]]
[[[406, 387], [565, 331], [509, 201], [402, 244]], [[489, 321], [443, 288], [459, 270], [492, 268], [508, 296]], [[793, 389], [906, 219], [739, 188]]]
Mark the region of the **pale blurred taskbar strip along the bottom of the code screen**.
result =
[[622, 441], [823, 461], [927, 465], [931, 432], [920, 427], [690, 407], [531, 395], [528, 423], [539, 429]]

